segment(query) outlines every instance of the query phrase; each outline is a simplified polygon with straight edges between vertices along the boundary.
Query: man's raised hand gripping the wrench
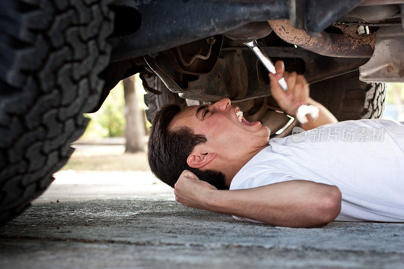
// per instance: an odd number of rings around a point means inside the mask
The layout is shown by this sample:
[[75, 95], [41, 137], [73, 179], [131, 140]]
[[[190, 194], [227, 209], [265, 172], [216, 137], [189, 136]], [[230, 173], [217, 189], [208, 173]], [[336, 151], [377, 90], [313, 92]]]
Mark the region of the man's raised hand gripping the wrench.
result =
[[[296, 72], [285, 72], [282, 61], [275, 63], [276, 74], [269, 73], [271, 78], [271, 93], [280, 108], [290, 116], [296, 116], [297, 108], [309, 101], [309, 84], [302, 75]], [[285, 78], [287, 91], [279, 85], [278, 80]]]

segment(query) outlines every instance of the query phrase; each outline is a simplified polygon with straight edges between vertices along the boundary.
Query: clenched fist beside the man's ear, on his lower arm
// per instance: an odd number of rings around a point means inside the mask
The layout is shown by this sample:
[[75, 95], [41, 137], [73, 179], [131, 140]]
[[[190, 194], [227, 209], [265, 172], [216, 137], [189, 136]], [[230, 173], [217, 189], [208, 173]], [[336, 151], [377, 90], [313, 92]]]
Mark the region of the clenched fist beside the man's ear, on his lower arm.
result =
[[199, 180], [195, 174], [184, 170], [174, 185], [175, 200], [183, 205], [209, 210], [209, 194], [217, 190], [206, 181]]

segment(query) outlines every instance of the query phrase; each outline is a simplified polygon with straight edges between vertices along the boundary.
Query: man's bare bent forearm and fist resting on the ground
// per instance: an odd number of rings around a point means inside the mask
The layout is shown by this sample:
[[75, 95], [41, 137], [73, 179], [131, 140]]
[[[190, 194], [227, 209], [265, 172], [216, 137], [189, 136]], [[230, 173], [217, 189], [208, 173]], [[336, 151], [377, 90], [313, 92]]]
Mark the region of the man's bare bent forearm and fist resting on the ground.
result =
[[333, 221], [341, 209], [341, 192], [336, 186], [305, 180], [217, 190], [185, 170], [174, 193], [176, 200], [186, 206], [296, 228], [323, 226]]

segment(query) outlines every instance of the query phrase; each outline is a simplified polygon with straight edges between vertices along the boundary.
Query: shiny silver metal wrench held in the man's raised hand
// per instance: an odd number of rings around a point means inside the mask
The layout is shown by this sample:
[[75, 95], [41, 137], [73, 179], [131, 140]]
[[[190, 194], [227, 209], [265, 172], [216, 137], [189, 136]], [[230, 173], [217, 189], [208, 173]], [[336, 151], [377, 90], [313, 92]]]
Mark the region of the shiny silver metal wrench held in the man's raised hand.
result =
[[[251, 48], [252, 51], [257, 55], [258, 59], [260, 59], [261, 63], [267, 68], [269, 72], [275, 75], [276, 70], [272, 61], [265, 55], [264, 51], [258, 46], [257, 41], [245, 42], [243, 43], [247, 47]], [[281, 78], [278, 80], [279, 85], [282, 87], [284, 91], [287, 91], [287, 84], [285, 78]], [[308, 122], [306, 115], [309, 114], [313, 120], [317, 120], [319, 117], [319, 108], [316, 105], [307, 105], [302, 104], [297, 108], [296, 119], [301, 124], [306, 124]]]

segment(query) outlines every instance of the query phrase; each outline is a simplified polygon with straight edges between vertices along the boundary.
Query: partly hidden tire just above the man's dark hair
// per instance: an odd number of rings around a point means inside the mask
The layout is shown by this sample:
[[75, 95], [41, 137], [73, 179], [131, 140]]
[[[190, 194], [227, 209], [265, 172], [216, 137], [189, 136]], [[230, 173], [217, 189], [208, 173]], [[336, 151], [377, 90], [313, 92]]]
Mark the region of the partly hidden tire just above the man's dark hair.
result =
[[141, 74], [140, 78], [146, 90], [144, 103], [147, 105], [146, 118], [149, 122], [153, 120], [156, 113], [167, 103], [177, 103], [185, 106], [185, 99], [178, 96], [178, 93], [170, 91], [163, 81], [155, 74]]

